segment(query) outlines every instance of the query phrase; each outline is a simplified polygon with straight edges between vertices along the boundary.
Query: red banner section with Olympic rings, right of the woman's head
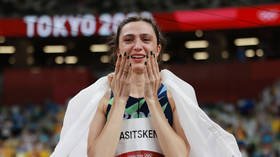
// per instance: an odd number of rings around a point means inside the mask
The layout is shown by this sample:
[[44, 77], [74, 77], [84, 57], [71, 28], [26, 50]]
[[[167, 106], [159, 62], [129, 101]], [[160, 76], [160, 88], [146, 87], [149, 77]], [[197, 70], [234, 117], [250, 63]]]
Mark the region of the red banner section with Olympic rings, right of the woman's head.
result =
[[170, 18], [161, 14], [154, 16], [165, 31], [172, 32], [280, 26], [280, 4], [175, 11]]

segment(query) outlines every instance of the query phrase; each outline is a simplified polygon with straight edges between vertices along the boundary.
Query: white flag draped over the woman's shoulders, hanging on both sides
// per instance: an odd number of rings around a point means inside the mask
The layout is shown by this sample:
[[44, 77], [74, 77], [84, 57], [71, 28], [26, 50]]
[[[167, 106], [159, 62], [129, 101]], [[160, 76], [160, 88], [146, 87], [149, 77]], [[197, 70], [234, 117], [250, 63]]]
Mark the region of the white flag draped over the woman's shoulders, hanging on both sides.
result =
[[[193, 87], [168, 70], [162, 70], [161, 77], [175, 101], [180, 124], [190, 143], [190, 157], [241, 157], [234, 136], [199, 108]], [[90, 122], [108, 90], [108, 79], [104, 76], [71, 99], [51, 157], [87, 157]]]

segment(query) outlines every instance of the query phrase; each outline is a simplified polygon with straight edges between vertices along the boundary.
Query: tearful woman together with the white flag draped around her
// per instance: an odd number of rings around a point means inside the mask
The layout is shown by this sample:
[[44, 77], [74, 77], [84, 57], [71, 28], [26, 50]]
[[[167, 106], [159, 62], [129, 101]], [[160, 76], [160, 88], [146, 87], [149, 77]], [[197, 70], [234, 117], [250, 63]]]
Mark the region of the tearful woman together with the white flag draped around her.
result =
[[199, 108], [192, 86], [159, 71], [162, 41], [149, 19], [119, 25], [115, 72], [70, 100], [51, 157], [241, 157], [235, 138]]

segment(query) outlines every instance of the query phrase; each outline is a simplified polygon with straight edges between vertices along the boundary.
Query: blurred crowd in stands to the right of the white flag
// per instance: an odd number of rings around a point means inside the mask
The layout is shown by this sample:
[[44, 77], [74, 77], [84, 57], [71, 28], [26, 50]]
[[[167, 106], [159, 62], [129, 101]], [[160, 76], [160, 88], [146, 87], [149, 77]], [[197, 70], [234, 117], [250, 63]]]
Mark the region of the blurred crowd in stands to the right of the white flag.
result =
[[235, 136], [242, 157], [280, 157], [280, 82], [265, 88], [259, 98], [203, 109]]

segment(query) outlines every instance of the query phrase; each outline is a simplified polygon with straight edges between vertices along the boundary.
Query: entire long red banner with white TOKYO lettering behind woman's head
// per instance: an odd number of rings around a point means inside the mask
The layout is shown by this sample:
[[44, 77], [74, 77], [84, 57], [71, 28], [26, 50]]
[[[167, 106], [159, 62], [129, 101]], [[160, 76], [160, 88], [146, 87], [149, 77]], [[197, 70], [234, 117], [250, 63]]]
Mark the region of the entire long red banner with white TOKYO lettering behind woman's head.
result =
[[164, 32], [220, 30], [280, 26], [280, 4], [200, 9], [174, 12], [140, 12], [100, 15], [26, 15], [0, 19], [0, 36], [77, 37], [108, 36], [127, 16], [152, 17]]

